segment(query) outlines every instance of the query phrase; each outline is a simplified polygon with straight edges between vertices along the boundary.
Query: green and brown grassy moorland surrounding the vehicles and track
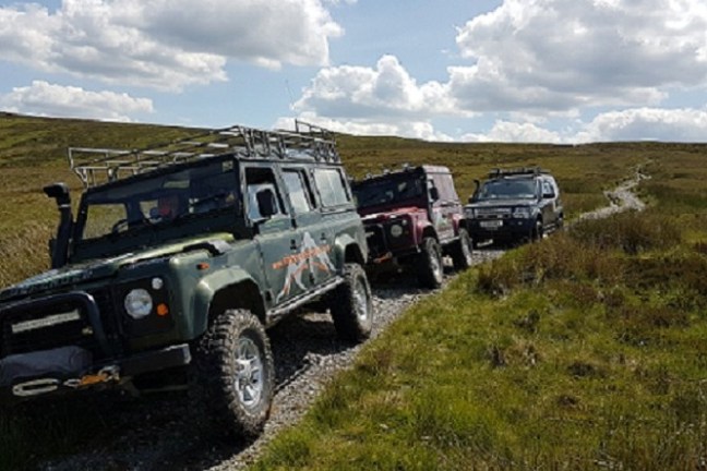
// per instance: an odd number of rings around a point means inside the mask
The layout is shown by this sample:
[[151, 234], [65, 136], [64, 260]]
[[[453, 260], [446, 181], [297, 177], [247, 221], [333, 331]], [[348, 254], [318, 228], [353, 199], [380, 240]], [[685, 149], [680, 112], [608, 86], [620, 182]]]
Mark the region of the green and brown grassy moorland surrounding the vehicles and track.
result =
[[[48, 265], [57, 210], [41, 186], [63, 180], [79, 194], [67, 146], [140, 147], [190, 132], [0, 116], [0, 286]], [[556, 176], [568, 220], [640, 169], [649, 208], [583, 221], [459, 276], [368, 345], [255, 469], [706, 466], [706, 145], [339, 136], [339, 150], [359, 178], [446, 165], [464, 200], [490, 168], [540, 165]], [[0, 469], [71, 451], [93, 433], [99, 424], [35, 430], [0, 416]]]

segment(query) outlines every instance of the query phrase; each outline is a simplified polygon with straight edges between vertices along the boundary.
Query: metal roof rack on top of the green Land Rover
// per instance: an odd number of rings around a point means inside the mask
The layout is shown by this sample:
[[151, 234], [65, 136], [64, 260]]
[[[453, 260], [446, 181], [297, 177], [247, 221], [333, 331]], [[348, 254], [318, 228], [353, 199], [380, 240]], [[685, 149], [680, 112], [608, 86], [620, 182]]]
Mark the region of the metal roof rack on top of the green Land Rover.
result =
[[233, 125], [144, 149], [70, 147], [69, 166], [85, 188], [92, 188], [176, 164], [227, 154], [253, 159], [340, 162], [334, 133], [296, 120], [293, 132]]

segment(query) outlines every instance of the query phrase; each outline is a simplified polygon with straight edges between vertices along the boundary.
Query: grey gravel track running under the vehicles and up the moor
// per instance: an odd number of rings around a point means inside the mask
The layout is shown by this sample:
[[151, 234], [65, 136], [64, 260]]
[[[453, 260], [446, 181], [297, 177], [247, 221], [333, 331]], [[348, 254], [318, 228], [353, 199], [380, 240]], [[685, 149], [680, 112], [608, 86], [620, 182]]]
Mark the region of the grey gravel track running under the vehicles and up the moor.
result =
[[[606, 192], [611, 205], [582, 215], [601, 218], [645, 207], [632, 190], [646, 178], [640, 173], [613, 191]], [[477, 250], [474, 265], [496, 258], [500, 250]], [[448, 267], [447, 267], [448, 268]], [[448, 270], [441, 289], [454, 273]], [[439, 290], [416, 288], [416, 280], [399, 278], [373, 286], [375, 319], [371, 339], [378, 337], [405, 310]], [[44, 471], [74, 470], [240, 470], [260, 456], [278, 432], [297, 423], [326, 384], [350, 367], [362, 345], [338, 341], [328, 314], [290, 316], [268, 331], [276, 367], [273, 412], [262, 435], [252, 443], [225, 444], [218, 437], [196, 432], [188, 420], [183, 394], [156, 395], [139, 400], [105, 396], [88, 397], [79, 406], [101, 419], [105, 434], [84, 454], [45, 462]], [[369, 340], [370, 341], [370, 340]]]

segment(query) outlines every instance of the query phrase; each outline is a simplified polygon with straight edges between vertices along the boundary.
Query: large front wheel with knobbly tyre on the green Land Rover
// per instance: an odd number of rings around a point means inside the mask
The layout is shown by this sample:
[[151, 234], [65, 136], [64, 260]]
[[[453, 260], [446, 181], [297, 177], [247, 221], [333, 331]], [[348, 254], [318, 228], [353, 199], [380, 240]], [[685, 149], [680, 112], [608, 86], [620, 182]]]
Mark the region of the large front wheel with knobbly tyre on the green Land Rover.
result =
[[253, 438], [269, 415], [275, 366], [262, 324], [250, 311], [214, 319], [196, 350], [196, 398], [212, 425], [232, 437]]

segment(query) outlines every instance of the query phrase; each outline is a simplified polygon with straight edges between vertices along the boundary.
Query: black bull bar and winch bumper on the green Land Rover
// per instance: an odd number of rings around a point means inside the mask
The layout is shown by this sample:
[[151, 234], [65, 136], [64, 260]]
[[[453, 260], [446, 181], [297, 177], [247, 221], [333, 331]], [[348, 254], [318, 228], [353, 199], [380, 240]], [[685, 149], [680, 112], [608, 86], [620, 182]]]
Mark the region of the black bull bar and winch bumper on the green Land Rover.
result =
[[122, 385], [191, 362], [188, 343], [135, 352], [122, 343], [110, 298], [73, 291], [0, 307], [0, 403]]

